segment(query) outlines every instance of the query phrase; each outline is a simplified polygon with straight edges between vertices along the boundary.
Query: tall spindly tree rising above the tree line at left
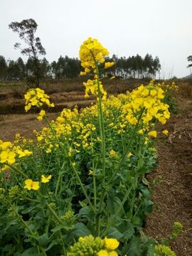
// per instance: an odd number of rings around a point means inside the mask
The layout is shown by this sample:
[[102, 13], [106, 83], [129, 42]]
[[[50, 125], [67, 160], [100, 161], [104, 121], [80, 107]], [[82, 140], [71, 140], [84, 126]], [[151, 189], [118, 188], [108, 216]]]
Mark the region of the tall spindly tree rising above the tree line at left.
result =
[[40, 59], [41, 55], [46, 55], [46, 50], [41, 45], [39, 37], [35, 37], [38, 24], [33, 18], [25, 19], [21, 22], [11, 22], [9, 28], [18, 33], [19, 38], [26, 43], [27, 48], [21, 48], [21, 43], [16, 43], [15, 48], [21, 49], [23, 55], [33, 58], [33, 76], [36, 78], [36, 85], [39, 87], [40, 82]]

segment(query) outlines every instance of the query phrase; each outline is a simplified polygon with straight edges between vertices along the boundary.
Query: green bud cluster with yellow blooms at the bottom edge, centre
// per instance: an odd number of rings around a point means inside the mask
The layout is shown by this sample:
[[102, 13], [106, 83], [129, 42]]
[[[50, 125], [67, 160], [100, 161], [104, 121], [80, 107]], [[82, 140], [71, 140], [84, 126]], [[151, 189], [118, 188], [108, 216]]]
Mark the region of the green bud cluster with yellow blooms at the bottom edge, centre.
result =
[[92, 235], [87, 235], [84, 238], [79, 238], [78, 242], [70, 247], [68, 256], [118, 256], [117, 252], [115, 252], [118, 246], [119, 242], [117, 239], [94, 238]]

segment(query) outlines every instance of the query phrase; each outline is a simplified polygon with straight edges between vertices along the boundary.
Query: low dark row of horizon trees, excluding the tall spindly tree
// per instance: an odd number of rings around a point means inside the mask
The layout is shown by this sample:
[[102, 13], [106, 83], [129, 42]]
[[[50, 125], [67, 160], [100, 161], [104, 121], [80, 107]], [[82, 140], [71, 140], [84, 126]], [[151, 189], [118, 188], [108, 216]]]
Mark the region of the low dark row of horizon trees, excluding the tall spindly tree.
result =
[[[107, 70], [108, 75], [119, 78], [156, 78], [161, 69], [159, 58], [152, 58], [148, 53], [144, 58], [140, 55], [129, 58], [112, 55], [108, 58], [114, 61], [115, 65]], [[63, 80], [65, 78], [79, 78], [81, 71], [80, 60], [78, 58], [69, 58], [61, 56], [57, 61], [49, 63], [44, 57], [38, 60], [38, 78], [39, 80], [52, 78]], [[6, 60], [0, 55], [0, 80], [28, 80], [33, 82], [36, 78], [36, 63], [31, 57], [26, 63], [20, 57], [17, 60]]]

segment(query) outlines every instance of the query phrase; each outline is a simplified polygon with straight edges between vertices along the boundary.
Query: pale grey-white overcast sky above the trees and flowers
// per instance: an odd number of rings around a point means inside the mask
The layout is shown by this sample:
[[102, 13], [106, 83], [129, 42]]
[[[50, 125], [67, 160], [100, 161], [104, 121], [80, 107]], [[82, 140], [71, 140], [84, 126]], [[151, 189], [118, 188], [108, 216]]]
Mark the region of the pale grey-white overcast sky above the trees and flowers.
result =
[[49, 61], [78, 57], [80, 44], [91, 36], [110, 55], [159, 56], [161, 78], [189, 74], [192, 0], [0, 0], [0, 17], [0, 55], [6, 59], [21, 56], [9, 23], [33, 18]]

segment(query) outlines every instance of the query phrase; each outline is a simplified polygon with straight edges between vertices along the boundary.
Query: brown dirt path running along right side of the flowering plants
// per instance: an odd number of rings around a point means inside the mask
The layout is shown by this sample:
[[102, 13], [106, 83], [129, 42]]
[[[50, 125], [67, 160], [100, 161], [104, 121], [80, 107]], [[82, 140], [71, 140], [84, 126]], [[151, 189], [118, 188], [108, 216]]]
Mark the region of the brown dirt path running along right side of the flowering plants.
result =
[[148, 177], [157, 181], [152, 201], [154, 212], [146, 220], [145, 232], [158, 240], [171, 233], [175, 221], [184, 230], [171, 247], [178, 256], [192, 255], [192, 101], [180, 102], [180, 114], [173, 114], [166, 129], [167, 140], [159, 139], [156, 170]]

